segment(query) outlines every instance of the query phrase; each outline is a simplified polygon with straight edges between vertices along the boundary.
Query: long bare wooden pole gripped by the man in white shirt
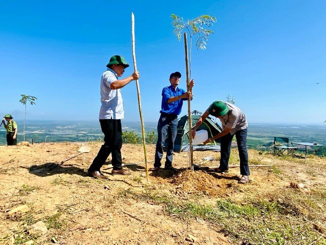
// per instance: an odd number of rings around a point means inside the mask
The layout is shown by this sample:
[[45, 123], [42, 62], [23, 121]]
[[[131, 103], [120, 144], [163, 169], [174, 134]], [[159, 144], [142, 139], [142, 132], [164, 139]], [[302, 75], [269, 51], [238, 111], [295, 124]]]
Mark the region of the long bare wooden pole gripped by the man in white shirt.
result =
[[[137, 71], [136, 55], [135, 55], [134, 15], [132, 12], [131, 12], [131, 46], [132, 46], [133, 68], [134, 68], [134, 71]], [[142, 124], [142, 136], [143, 136], [145, 167], [146, 167], [146, 181], [148, 183], [148, 166], [147, 166], [147, 151], [146, 151], [146, 141], [145, 141], [145, 127], [144, 127], [144, 120], [143, 120], [143, 113], [142, 113], [141, 91], [139, 90], [138, 79], [136, 80], [136, 87], [137, 87], [139, 115], [141, 117], [141, 124]]]

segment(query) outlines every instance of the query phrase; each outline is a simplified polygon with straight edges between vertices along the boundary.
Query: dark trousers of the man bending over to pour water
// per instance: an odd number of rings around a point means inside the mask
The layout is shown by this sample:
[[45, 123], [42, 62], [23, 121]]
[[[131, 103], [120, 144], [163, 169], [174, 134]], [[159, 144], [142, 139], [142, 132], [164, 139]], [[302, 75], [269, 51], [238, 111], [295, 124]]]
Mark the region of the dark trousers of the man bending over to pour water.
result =
[[[239, 157], [240, 157], [240, 174], [250, 175], [248, 166], [248, 151], [247, 151], [247, 129], [238, 130], [236, 132]], [[228, 159], [231, 153], [231, 143], [234, 135], [228, 133], [221, 137], [221, 160], [219, 168], [221, 170], [228, 170]]]

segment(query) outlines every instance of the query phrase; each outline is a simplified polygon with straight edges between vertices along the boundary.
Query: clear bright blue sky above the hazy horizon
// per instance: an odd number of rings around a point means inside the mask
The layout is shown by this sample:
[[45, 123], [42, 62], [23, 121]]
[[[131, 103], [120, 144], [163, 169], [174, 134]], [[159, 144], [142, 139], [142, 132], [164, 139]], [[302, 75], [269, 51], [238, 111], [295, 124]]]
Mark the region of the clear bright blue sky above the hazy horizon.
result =
[[[171, 13], [217, 18], [205, 51], [193, 49], [192, 109], [234, 96], [250, 122], [326, 120], [326, 1], [0, 1], [0, 114], [97, 120], [100, 78], [112, 55], [131, 64], [131, 12], [145, 121], [159, 118], [162, 88], [180, 71], [183, 42]], [[125, 120], [139, 120], [135, 82], [122, 89]], [[187, 113], [187, 104], [181, 114]]]

